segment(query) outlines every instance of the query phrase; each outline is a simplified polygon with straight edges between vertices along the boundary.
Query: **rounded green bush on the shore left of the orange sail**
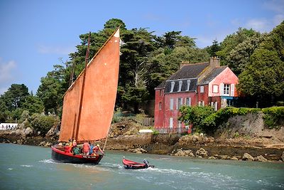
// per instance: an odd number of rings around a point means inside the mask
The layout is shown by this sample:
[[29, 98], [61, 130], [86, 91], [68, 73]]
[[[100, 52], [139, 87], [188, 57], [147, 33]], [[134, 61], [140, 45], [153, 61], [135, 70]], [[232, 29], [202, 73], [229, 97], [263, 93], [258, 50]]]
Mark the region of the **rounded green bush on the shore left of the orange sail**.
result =
[[58, 124], [58, 117], [50, 115], [40, 115], [35, 113], [31, 116], [31, 126], [43, 136], [53, 127]]

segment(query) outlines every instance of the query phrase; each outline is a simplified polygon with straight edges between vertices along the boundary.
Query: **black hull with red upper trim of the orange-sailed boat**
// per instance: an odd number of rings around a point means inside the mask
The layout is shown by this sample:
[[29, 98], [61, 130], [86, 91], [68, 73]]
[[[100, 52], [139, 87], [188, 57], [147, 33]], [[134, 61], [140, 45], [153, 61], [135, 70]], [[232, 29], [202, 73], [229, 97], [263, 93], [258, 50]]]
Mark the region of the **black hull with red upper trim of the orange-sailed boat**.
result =
[[58, 146], [58, 144], [53, 145], [51, 149], [52, 149], [51, 158], [56, 162], [62, 162], [62, 163], [99, 164], [102, 157], [104, 157], [103, 155], [97, 155], [97, 156], [73, 155], [63, 151], [62, 147]]

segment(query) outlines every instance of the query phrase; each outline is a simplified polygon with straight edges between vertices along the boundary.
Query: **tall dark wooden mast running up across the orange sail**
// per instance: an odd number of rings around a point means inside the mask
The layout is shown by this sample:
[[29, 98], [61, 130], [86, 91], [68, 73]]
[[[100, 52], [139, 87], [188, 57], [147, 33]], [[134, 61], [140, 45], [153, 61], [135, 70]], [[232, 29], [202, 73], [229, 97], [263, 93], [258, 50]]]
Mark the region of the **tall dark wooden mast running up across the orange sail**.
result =
[[89, 32], [88, 47], [87, 47], [86, 56], [84, 58], [84, 75], [83, 75], [83, 82], [82, 82], [82, 92], [81, 92], [81, 97], [80, 97], [78, 121], [77, 121], [76, 134], [75, 134], [76, 141], [78, 139], [78, 132], [79, 132], [79, 127], [80, 127], [80, 119], [81, 119], [81, 112], [82, 112], [82, 102], [83, 102], [83, 97], [84, 97], [84, 81], [86, 79], [87, 64], [89, 62], [89, 41], [90, 41], [90, 37], [91, 37], [91, 32]]

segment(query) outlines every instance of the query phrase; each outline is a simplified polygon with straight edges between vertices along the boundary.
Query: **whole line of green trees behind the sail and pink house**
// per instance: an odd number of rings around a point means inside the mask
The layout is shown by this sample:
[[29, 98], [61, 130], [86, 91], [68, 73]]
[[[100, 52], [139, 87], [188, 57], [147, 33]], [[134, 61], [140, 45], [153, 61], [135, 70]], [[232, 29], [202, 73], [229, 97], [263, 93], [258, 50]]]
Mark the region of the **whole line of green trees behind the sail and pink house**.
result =
[[[116, 107], [138, 112], [139, 104], [153, 100], [155, 87], [175, 73], [182, 61], [206, 62], [210, 56], [221, 58], [221, 64], [229, 65], [239, 77], [237, 88], [247, 102], [257, 101], [259, 107], [283, 103], [284, 22], [270, 33], [239, 28], [221, 43], [214, 40], [212, 46], [197, 48], [195, 38], [182, 36], [181, 31], [156, 36], [148, 28], [127, 29], [120, 19], [110, 19], [102, 30], [91, 33], [89, 60], [117, 26], [124, 45]], [[24, 84], [13, 84], [1, 95], [0, 122], [20, 120], [27, 114], [61, 115], [62, 97], [84, 68], [88, 33], [81, 34], [80, 40], [75, 53], [70, 53], [70, 60], [60, 60], [41, 78], [35, 95], [28, 93]]]

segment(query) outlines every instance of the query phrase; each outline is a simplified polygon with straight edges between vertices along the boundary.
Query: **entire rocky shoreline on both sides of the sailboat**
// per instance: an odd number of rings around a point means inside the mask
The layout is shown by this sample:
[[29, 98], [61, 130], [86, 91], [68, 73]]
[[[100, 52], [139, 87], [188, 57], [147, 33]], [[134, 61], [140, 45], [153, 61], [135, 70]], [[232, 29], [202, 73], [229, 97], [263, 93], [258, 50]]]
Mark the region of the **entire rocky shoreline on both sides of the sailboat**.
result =
[[[284, 161], [284, 142], [276, 137], [214, 138], [200, 134], [139, 134], [138, 129], [139, 126], [129, 122], [112, 125], [106, 149], [189, 158]], [[50, 147], [58, 142], [58, 134], [53, 128], [45, 137], [34, 134], [28, 128], [4, 130], [0, 131], [0, 143]]]

